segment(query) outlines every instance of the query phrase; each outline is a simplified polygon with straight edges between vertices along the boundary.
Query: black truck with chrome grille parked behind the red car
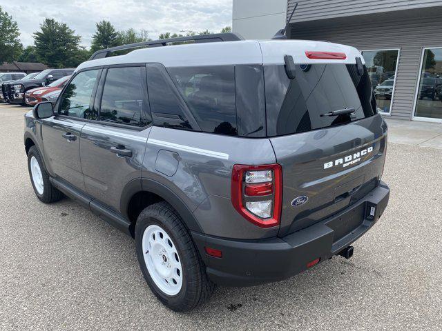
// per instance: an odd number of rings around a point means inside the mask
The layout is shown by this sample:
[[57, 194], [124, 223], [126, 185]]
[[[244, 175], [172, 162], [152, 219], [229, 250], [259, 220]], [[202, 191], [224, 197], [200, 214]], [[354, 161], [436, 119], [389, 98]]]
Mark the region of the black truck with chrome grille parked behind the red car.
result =
[[33, 79], [28, 81], [12, 81], [7, 84], [8, 97], [10, 103], [21, 103], [26, 105], [24, 94], [32, 88], [39, 88], [41, 86], [47, 86], [53, 81], [60, 79], [61, 77], [72, 74], [74, 69], [46, 69]]

